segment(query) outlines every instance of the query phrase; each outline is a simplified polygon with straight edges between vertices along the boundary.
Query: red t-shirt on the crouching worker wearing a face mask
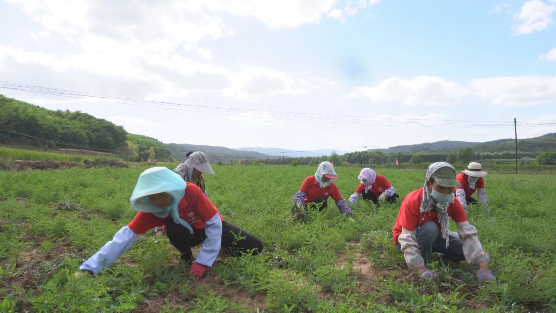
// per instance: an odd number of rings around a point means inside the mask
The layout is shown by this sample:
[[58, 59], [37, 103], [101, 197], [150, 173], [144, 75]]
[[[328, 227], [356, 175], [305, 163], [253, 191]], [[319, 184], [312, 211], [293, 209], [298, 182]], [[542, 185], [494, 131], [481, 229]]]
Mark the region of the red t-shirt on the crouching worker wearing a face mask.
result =
[[[438, 225], [439, 231], [440, 222], [438, 221], [438, 215], [436, 211], [430, 211], [421, 213], [419, 212], [419, 207], [421, 206], [421, 198], [423, 198], [423, 188], [417, 189], [405, 196], [403, 202], [401, 202], [400, 212], [396, 218], [396, 223], [392, 229], [394, 234], [394, 243], [398, 246], [398, 237], [401, 234], [401, 228], [405, 228], [408, 231], [414, 231], [417, 226], [424, 224], [429, 221], [434, 221]], [[465, 216], [465, 211], [459, 203], [458, 199], [455, 199], [448, 206], [448, 216], [454, 220], [454, 222], [466, 222], [467, 217]]]

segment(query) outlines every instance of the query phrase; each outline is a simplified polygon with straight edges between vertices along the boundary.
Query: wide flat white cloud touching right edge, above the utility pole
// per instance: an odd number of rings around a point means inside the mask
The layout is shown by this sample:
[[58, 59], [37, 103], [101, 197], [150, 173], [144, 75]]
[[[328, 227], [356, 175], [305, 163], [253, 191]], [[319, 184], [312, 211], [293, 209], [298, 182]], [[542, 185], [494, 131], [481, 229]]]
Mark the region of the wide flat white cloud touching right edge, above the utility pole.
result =
[[493, 77], [476, 79], [475, 94], [503, 106], [556, 103], [556, 76]]

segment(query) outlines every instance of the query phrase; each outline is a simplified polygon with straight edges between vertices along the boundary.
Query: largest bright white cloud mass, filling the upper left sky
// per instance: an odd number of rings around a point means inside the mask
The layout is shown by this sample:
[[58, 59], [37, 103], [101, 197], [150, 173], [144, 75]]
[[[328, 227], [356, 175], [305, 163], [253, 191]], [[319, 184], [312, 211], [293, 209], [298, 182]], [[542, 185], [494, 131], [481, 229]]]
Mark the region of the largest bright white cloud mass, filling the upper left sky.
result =
[[[190, 60], [181, 52], [191, 51], [203, 60], [212, 60], [212, 51], [198, 46], [198, 42], [233, 34], [215, 12], [251, 16], [270, 27], [296, 27], [317, 22], [336, 0], [137, 1], [133, 6], [86, 0], [9, 1], [21, 3], [23, 10], [44, 27], [44, 31], [34, 32], [33, 36], [59, 33], [78, 52], [49, 54], [0, 46], [0, 74], [6, 73], [8, 67], [34, 66], [58, 74], [58, 84], [67, 80], [64, 77], [83, 72], [93, 81], [112, 77], [146, 84], [150, 86], [143, 94], [147, 99], [213, 92], [242, 100], [259, 100], [304, 94], [311, 84], [302, 75], [264, 66], [230, 70]], [[86, 84], [85, 79], [81, 81]]]

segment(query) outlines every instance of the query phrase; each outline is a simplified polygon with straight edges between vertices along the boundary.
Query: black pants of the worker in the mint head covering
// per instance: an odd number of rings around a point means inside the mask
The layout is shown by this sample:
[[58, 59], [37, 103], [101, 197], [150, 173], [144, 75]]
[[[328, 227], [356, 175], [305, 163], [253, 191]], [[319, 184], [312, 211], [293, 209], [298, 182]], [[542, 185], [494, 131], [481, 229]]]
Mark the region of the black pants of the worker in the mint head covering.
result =
[[[240, 233], [241, 232], [241, 233]], [[245, 237], [236, 242], [236, 236]], [[189, 232], [182, 224], [176, 224], [173, 221], [166, 224], [166, 236], [170, 239], [172, 246], [181, 252], [181, 260], [192, 261], [193, 254], [191, 248], [197, 246], [205, 240], [205, 229], [194, 229], [193, 233]], [[262, 241], [243, 229], [234, 226], [226, 221], [222, 222], [222, 243], [221, 248], [231, 248], [236, 255], [247, 250], [256, 249], [253, 255], [257, 255], [262, 251]]]

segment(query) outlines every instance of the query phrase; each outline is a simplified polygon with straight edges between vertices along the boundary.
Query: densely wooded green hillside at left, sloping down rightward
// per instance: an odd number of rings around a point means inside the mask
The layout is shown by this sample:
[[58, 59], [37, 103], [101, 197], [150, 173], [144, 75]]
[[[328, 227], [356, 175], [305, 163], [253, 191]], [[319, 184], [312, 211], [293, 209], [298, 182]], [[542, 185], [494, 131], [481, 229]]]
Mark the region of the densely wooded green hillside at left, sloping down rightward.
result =
[[167, 161], [171, 157], [170, 150], [160, 141], [129, 134], [111, 121], [80, 111], [48, 110], [3, 95], [0, 125], [0, 143], [4, 144], [41, 146], [45, 150], [90, 149], [112, 152], [130, 161]]

